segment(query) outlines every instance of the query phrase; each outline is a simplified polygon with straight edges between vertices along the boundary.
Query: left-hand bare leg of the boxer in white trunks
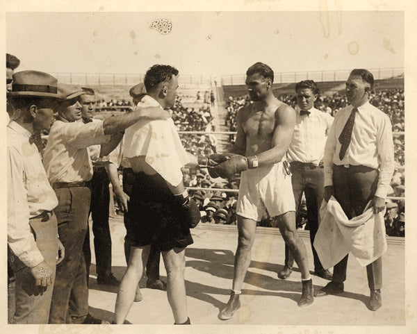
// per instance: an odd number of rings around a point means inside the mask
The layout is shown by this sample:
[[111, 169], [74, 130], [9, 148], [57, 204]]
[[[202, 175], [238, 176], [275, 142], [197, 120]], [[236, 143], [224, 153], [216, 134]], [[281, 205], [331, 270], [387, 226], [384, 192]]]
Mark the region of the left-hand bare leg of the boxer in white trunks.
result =
[[242, 290], [243, 281], [251, 260], [252, 245], [255, 240], [256, 222], [238, 216], [238, 249], [234, 261], [233, 290]]

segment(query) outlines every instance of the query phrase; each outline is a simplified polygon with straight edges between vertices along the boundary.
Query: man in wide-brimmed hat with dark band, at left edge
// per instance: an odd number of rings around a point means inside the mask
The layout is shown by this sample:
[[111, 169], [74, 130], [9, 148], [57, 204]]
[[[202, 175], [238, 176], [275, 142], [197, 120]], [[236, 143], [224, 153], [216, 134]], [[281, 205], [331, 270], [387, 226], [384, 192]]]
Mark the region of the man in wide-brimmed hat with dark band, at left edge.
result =
[[13, 75], [7, 97], [15, 108], [8, 124], [8, 247], [15, 272], [16, 324], [47, 324], [56, 264], [65, 249], [58, 239], [56, 194], [34, 138], [49, 131], [60, 99], [56, 78], [37, 71]]

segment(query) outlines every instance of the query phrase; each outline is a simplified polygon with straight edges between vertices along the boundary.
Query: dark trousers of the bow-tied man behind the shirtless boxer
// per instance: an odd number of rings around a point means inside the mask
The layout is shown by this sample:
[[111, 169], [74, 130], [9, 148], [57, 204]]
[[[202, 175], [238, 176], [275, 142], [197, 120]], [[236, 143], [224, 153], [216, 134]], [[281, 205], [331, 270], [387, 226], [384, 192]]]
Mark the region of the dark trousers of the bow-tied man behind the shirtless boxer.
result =
[[[293, 183], [293, 193], [297, 215], [300, 212], [303, 192], [306, 197], [307, 219], [309, 222], [311, 249], [313, 251], [314, 270], [322, 270], [323, 267], [318, 259], [313, 243], [318, 230], [318, 216], [323, 199], [324, 169], [322, 169], [322, 167], [315, 167], [313, 164], [291, 162], [291, 173], [293, 174], [291, 180]], [[285, 245], [285, 265], [292, 268], [293, 264], [294, 258], [291, 255], [288, 246]]]

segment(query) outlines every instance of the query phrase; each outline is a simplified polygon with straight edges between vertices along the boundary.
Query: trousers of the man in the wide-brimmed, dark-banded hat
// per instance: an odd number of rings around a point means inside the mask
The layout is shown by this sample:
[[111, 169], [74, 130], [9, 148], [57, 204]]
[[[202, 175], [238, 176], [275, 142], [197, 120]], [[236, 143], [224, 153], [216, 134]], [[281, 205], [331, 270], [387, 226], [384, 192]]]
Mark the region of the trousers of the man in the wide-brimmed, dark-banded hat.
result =
[[30, 219], [29, 224], [35, 237], [36, 245], [44, 257], [44, 261], [52, 270], [52, 285], [41, 287], [35, 285], [31, 268], [26, 267], [10, 251], [10, 265], [15, 271], [15, 324], [48, 324], [51, 298], [54, 289], [56, 272], [56, 216], [50, 219]]

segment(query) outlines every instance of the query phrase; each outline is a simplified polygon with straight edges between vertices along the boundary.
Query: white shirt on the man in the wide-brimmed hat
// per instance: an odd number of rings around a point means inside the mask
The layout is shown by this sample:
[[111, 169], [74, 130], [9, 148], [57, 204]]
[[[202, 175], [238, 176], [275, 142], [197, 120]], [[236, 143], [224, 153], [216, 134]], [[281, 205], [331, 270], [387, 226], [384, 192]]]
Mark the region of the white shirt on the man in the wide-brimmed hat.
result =
[[[31, 133], [16, 122], [7, 126], [8, 245], [28, 267], [44, 260], [36, 245], [29, 219], [58, 205]], [[57, 231], [58, 235], [58, 231]]]

